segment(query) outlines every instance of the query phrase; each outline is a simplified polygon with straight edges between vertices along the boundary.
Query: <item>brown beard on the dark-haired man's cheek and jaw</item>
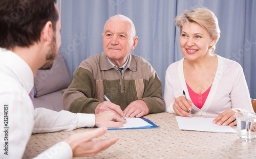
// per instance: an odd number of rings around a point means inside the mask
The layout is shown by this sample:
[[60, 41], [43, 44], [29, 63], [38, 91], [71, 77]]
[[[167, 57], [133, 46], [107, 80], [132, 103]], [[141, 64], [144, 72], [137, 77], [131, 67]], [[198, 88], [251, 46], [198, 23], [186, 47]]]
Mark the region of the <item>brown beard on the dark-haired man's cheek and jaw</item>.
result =
[[58, 49], [56, 44], [56, 36], [54, 35], [50, 44], [50, 49], [48, 50], [46, 55], [46, 63], [39, 68], [40, 70], [48, 70], [52, 68], [53, 60], [57, 55], [57, 51]]

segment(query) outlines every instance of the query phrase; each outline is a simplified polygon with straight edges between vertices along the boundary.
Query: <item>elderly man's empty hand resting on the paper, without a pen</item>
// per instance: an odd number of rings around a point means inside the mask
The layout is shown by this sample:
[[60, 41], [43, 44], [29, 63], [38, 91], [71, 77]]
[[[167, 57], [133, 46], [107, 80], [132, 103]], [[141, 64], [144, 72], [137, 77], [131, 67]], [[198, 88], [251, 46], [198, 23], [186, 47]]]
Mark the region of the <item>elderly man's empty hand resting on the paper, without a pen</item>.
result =
[[148, 114], [148, 108], [144, 100], [135, 100], [131, 102], [123, 111], [125, 117], [142, 117]]

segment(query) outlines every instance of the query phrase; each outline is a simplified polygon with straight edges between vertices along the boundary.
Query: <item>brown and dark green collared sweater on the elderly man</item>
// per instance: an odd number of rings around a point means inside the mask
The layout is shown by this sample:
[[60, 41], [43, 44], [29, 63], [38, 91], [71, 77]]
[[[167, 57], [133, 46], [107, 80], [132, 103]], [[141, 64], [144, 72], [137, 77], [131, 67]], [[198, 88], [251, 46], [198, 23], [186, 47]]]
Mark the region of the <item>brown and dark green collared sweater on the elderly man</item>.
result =
[[73, 113], [94, 113], [106, 95], [124, 110], [141, 99], [148, 114], [165, 111], [162, 83], [153, 67], [141, 57], [129, 54], [123, 73], [113, 67], [104, 52], [81, 62], [73, 81], [63, 94], [63, 107]]

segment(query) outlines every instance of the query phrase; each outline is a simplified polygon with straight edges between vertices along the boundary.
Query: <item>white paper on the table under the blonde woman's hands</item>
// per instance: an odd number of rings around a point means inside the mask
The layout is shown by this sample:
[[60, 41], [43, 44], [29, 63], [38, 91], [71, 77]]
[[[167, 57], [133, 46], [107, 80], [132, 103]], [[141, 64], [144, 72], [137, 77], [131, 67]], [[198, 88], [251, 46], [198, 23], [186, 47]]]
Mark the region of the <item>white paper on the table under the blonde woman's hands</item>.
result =
[[215, 118], [203, 118], [203, 117], [175, 117], [178, 121], [180, 130], [194, 130], [194, 131], [208, 131], [216, 133], [237, 133], [230, 126], [222, 126], [212, 123]]

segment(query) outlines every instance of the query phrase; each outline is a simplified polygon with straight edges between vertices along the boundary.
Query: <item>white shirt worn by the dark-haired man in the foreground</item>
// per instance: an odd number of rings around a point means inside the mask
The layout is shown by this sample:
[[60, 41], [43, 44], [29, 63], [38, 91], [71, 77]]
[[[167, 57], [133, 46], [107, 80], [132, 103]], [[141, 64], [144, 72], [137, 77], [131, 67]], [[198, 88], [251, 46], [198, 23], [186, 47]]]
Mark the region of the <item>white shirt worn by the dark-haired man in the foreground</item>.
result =
[[[0, 158], [22, 158], [32, 133], [95, 125], [94, 114], [34, 110], [29, 96], [33, 85], [33, 72], [28, 64], [14, 52], [0, 48], [0, 146], [8, 150], [4, 151], [6, 155], [1, 148]], [[72, 155], [69, 144], [60, 142], [36, 158], [72, 158]]]

